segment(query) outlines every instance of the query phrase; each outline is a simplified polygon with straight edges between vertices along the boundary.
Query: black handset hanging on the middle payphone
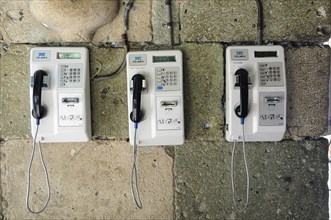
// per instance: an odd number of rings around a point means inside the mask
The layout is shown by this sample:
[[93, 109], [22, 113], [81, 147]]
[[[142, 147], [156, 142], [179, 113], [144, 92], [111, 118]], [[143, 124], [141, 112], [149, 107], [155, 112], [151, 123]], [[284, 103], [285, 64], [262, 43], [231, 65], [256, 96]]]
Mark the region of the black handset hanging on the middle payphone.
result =
[[132, 77], [133, 82], [133, 97], [132, 97], [132, 112], [130, 113], [131, 121], [138, 123], [143, 118], [143, 112], [140, 109], [141, 105], [141, 92], [143, 90], [143, 80], [145, 78], [136, 74]]

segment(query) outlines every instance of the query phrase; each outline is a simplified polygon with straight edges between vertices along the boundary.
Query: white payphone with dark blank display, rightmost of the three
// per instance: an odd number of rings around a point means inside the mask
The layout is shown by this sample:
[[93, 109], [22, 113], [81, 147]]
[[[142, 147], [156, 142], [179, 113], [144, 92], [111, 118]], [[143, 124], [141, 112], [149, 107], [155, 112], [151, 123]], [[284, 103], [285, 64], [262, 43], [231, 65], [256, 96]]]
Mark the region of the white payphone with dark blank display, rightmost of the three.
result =
[[280, 141], [286, 130], [286, 100], [283, 47], [226, 49], [227, 141]]

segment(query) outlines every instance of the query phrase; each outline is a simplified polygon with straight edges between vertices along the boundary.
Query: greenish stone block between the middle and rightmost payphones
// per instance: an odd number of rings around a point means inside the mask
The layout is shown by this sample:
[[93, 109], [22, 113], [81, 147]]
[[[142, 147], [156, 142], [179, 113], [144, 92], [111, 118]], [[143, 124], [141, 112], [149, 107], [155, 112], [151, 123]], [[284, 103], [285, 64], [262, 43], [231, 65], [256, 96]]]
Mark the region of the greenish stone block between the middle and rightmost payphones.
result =
[[223, 137], [223, 46], [184, 44], [185, 133], [187, 140]]

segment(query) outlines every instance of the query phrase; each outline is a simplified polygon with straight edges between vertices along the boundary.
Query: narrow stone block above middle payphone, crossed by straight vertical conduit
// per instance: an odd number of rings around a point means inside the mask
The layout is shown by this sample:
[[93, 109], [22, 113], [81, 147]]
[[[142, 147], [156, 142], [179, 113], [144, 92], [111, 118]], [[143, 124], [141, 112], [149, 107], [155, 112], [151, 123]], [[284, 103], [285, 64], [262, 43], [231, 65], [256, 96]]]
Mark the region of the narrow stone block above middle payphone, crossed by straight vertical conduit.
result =
[[[171, 1], [172, 22], [173, 22], [173, 39], [174, 44], [179, 44], [179, 11], [180, 2], [178, 0]], [[167, 14], [164, 1], [153, 1], [153, 43], [155, 44], [170, 44], [169, 33], [167, 28]]]

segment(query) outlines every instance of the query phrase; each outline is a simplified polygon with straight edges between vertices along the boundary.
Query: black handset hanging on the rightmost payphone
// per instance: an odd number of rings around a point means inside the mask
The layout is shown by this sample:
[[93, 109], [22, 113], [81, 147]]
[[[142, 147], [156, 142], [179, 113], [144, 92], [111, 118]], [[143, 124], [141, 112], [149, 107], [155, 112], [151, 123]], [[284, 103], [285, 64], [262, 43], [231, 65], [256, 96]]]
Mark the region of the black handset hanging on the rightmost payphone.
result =
[[235, 113], [239, 118], [246, 118], [248, 115], [248, 72], [245, 69], [238, 69], [235, 73], [238, 76], [236, 86], [240, 87], [240, 105], [236, 107]]

